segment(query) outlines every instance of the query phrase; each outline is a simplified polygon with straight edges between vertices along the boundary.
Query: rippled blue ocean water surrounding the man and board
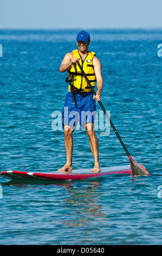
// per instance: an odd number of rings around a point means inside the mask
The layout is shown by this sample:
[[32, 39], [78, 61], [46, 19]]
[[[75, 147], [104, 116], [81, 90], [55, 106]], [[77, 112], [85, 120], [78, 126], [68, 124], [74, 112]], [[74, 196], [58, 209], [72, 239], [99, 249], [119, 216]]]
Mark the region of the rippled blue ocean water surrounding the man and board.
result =
[[[51, 172], [66, 162], [63, 131], [52, 124], [67, 94], [67, 74], [59, 68], [77, 48], [77, 32], [0, 31], [1, 172]], [[0, 175], [0, 245], [162, 244], [161, 32], [89, 31], [89, 50], [102, 63], [101, 102], [129, 153], [151, 175], [51, 184]], [[129, 164], [111, 127], [96, 135], [101, 167]], [[86, 132], [75, 131], [73, 168], [93, 163]]]

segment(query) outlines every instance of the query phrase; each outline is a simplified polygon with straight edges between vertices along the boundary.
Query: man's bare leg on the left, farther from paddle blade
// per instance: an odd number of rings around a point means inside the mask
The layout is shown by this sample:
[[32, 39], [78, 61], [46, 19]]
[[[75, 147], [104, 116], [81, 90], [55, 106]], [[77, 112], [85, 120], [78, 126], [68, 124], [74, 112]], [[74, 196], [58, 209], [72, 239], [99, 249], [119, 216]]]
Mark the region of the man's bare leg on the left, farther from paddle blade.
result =
[[72, 127], [64, 125], [64, 146], [66, 149], [67, 162], [59, 172], [72, 172], [72, 154], [73, 154], [73, 130]]

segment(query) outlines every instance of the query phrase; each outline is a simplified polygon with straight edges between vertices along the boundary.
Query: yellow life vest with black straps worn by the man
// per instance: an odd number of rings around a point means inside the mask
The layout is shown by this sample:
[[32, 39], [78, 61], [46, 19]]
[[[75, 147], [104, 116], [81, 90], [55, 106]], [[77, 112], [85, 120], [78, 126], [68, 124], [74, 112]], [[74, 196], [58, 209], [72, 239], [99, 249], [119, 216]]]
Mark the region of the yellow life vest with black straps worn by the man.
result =
[[[93, 68], [93, 56], [95, 55], [94, 52], [88, 52], [87, 57], [83, 61], [79, 51], [74, 50], [74, 58], [78, 57], [80, 59], [80, 65], [82, 66], [83, 71], [85, 71], [89, 82], [92, 84], [92, 87], [95, 87], [96, 77], [95, 72]], [[66, 82], [69, 82], [69, 89], [73, 90], [74, 93], [78, 92], [92, 92], [92, 89], [90, 89], [86, 78], [82, 75], [82, 72], [77, 64], [73, 65], [72, 69], [68, 71], [68, 78]], [[72, 87], [72, 89], [71, 89]]]

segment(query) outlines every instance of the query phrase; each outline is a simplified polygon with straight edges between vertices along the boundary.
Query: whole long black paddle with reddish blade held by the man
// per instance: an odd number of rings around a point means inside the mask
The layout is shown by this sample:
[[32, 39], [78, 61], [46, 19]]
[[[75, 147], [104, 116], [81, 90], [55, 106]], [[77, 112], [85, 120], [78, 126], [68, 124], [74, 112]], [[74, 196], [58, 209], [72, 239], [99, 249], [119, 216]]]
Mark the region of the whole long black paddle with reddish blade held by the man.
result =
[[[96, 95], [95, 90], [93, 89], [92, 85], [90, 84], [90, 82], [89, 82], [89, 80], [88, 80], [88, 78], [87, 78], [87, 76], [86, 76], [86, 74], [85, 74], [85, 71], [83, 71], [83, 69], [82, 69], [80, 63], [78, 62], [77, 65], [79, 65], [79, 68], [80, 68], [80, 70], [82, 71], [83, 76], [86, 78], [86, 81], [87, 81], [88, 85], [89, 85], [90, 88], [92, 89], [93, 94]], [[114, 130], [114, 132], [115, 132], [115, 134], [116, 134], [116, 136], [118, 137], [118, 139], [119, 139], [119, 141], [120, 141], [122, 147], [123, 147], [124, 150], [126, 151], [126, 154], [127, 154], [128, 158], [129, 158], [129, 162], [130, 162], [130, 165], [131, 165], [131, 175], [133, 175], [133, 176], [134, 176], [134, 175], [135, 175], [135, 176], [137, 176], [137, 175], [138, 175], [138, 176], [150, 175], [150, 173], [148, 173], [147, 170], [146, 170], [144, 167], [142, 167], [139, 163], [137, 163], [137, 162], [132, 158], [132, 156], [128, 153], [128, 150], [126, 149], [125, 144], [122, 142], [122, 139], [120, 138], [119, 133], [116, 131], [115, 126], [113, 125], [111, 119], [109, 118], [108, 114], [106, 113], [106, 110], [105, 110], [105, 108], [103, 107], [101, 101], [98, 101], [98, 102], [99, 102], [99, 104], [100, 104], [100, 106], [101, 106], [103, 112], [105, 113], [105, 115], [106, 115], [106, 117], [107, 117], [109, 123], [111, 124], [111, 126], [112, 126], [112, 128], [113, 128], [113, 130]]]

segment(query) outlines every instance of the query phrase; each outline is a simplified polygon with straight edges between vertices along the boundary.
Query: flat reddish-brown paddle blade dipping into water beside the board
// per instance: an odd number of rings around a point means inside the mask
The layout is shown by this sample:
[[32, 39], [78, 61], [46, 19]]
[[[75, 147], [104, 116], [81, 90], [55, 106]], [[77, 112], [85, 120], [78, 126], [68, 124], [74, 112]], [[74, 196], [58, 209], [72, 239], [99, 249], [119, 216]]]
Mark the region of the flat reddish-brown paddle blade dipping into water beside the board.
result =
[[135, 162], [132, 156], [129, 156], [129, 162], [131, 165], [131, 175], [132, 176], [146, 176], [150, 175], [147, 170], [141, 166], [139, 163]]

